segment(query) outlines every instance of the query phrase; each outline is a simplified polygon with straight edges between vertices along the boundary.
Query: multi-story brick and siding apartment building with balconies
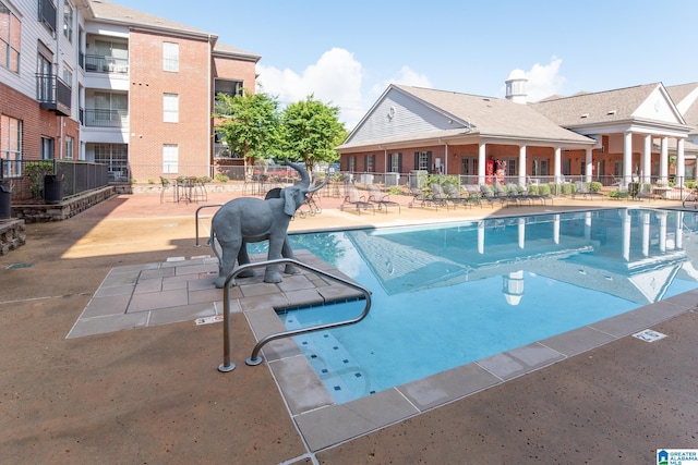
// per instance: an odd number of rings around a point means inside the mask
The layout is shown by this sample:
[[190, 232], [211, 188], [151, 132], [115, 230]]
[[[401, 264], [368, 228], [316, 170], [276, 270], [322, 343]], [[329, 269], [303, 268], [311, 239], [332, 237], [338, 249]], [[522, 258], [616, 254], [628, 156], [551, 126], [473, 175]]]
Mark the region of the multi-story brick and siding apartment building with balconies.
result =
[[0, 158], [106, 163], [110, 179], [210, 175], [218, 93], [260, 57], [99, 0], [0, 0]]

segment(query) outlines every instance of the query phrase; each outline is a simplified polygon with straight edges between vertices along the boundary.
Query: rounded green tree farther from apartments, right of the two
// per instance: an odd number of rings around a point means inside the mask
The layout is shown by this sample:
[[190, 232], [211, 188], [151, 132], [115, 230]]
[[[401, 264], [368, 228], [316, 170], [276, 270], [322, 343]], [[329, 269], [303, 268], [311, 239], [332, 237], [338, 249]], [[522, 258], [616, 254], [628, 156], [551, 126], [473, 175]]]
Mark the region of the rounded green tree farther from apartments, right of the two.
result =
[[309, 173], [317, 162], [339, 160], [335, 147], [347, 138], [347, 131], [338, 117], [339, 107], [315, 100], [312, 95], [286, 107], [281, 127], [288, 158], [302, 161]]

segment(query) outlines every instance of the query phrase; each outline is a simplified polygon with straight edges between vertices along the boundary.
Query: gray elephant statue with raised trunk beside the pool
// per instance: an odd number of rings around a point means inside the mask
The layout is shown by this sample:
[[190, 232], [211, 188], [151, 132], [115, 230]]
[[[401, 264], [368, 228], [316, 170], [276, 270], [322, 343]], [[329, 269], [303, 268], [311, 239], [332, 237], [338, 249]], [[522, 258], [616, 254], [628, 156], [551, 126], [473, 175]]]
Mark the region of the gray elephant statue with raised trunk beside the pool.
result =
[[[210, 246], [218, 258], [218, 278], [216, 287], [222, 287], [228, 274], [234, 268], [236, 259], [239, 265], [250, 262], [248, 243], [269, 241], [268, 259], [281, 257], [294, 258], [288, 241], [288, 224], [296, 210], [306, 200], [306, 195], [322, 188], [325, 181], [311, 187], [310, 176], [301, 164], [286, 160], [286, 164], [293, 168], [301, 175], [301, 180], [289, 187], [273, 189], [266, 198], [239, 197], [220, 207], [210, 224]], [[216, 248], [216, 240], [220, 244], [221, 254]], [[285, 272], [298, 273], [298, 269], [287, 265]], [[254, 276], [254, 270], [246, 270], [240, 277]], [[268, 266], [265, 270], [264, 282], [281, 282], [278, 266]]]

